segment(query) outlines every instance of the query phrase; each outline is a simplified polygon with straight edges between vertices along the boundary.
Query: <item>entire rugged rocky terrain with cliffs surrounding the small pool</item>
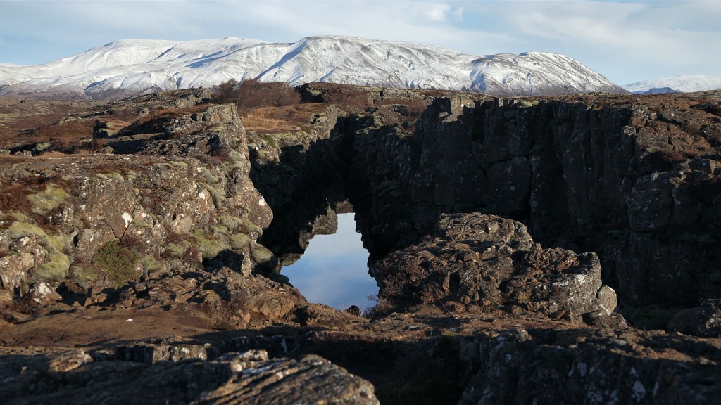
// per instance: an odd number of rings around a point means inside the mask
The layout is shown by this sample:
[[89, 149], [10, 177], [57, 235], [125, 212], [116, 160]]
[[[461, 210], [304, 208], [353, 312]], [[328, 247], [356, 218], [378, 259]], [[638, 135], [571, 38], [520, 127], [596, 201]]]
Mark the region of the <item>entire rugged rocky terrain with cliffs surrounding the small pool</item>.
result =
[[[721, 394], [718, 94], [301, 92], [309, 102], [243, 118], [203, 90], [136, 97], [50, 125], [84, 123], [76, 142], [94, 153], [25, 135], [4, 145], [0, 362], [13, 383], [1, 396]], [[349, 210], [380, 287], [366, 316], [308, 303], [282, 274]], [[648, 304], [674, 315], [668, 332], [616, 308]]]

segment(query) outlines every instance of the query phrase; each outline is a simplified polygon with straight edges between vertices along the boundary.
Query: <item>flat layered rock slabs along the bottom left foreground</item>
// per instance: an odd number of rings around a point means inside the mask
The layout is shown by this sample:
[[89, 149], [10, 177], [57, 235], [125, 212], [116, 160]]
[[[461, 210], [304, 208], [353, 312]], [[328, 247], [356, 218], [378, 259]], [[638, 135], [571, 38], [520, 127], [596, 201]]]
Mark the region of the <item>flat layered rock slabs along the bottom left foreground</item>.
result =
[[[185, 350], [188, 350], [185, 348]], [[189, 350], [188, 350], [189, 351]], [[4, 355], [7, 404], [379, 404], [368, 381], [318, 356], [270, 359], [253, 350], [204, 361], [94, 361], [82, 350]], [[12, 382], [12, 383], [10, 383]]]

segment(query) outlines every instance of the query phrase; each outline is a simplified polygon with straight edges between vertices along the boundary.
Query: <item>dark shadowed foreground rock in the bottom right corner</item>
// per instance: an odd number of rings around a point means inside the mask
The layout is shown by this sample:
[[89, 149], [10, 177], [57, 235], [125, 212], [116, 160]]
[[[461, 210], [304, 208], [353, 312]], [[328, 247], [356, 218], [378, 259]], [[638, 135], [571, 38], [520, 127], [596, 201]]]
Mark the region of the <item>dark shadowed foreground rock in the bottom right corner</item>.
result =
[[[478, 372], [459, 404], [699, 404], [721, 393], [717, 342], [630, 331], [548, 332], [481, 337]], [[708, 362], [687, 363], [696, 350]]]

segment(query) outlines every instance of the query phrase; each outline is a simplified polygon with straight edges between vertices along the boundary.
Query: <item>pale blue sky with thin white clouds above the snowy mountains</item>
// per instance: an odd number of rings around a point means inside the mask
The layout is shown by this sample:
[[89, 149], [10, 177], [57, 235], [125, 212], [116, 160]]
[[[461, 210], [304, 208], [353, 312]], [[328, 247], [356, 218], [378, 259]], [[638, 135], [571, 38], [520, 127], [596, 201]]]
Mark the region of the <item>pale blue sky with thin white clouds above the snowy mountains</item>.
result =
[[616, 84], [721, 76], [721, 1], [0, 0], [0, 63], [75, 55], [120, 39], [350, 35], [472, 55], [562, 53]]

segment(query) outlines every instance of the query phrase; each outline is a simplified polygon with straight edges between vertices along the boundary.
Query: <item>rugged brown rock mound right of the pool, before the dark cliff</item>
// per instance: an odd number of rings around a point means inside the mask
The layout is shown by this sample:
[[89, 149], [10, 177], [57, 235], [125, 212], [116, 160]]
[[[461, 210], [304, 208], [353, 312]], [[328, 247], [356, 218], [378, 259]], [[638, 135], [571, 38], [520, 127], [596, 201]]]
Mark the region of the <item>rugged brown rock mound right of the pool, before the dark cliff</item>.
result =
[[616, 293], [601, 285], [593, 253], [534, 244], [526, 226], [495, 215], [441, 215], [433, 234], [371, 265], [381, 294], [396, 305], [431, 303], [455, 311], [540, 313], [552, 319], [624, 327]]

